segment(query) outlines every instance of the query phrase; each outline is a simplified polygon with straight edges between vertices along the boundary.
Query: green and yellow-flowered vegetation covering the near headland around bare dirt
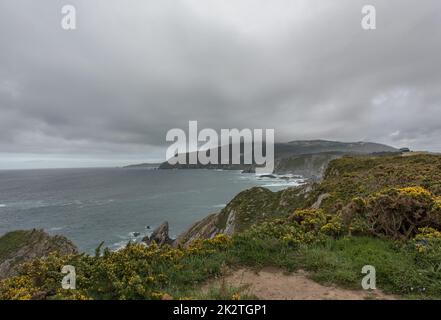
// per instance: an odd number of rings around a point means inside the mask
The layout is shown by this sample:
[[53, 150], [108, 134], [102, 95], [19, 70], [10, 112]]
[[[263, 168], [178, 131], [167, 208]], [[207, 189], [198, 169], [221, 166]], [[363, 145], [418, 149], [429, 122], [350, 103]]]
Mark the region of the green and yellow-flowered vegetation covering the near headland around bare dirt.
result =
[[[386, 293], [440, 299], [440, 169], [435, 155], [334, 160], [321, 184], [295, 191], [292, 210], [280, 210], [280, 194], [256, 193], [250, 203], [233, 200], [230, 205], [249, 219], [231, 237], [199, 239], [187, 248], [130, 244], [117, 252], [99, 249], [96, 256], [53, 254], [3, 280], [0, 298], [238, 299], [234, 288], [222, 294], [200, 288], [226, 269], [243, 266], [302, 268], [320, 283], [360, 289], [361, 269], [369, 264]], [[329, 196], [311, 209], [322, 194]], [[253, 220], [262, 205], [277, 215]], [[77, 290], [61, 289], [66, 264], [76, 267]]]

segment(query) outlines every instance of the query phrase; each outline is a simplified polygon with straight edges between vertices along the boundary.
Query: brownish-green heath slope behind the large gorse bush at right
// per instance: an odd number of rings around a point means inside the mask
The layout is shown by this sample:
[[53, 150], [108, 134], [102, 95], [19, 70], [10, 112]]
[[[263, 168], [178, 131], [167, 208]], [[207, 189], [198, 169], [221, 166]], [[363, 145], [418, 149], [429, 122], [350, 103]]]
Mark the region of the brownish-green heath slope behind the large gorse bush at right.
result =
[[323, 205], [332, 209], [356, 196], [408, 186], [422, 186], [441, 195], [441, 156], [344, 157], [331, 162], [314, 196], [330, 193]]

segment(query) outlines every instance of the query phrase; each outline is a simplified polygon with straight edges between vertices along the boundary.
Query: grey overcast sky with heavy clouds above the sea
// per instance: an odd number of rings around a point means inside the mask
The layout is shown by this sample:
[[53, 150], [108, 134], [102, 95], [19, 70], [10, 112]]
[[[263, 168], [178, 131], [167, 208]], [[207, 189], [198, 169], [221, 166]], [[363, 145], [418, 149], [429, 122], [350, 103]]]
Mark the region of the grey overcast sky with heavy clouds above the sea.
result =
[[0, 2], [0, 168], [161, 161], [189, 120], [441, 151], [441, 1]]

